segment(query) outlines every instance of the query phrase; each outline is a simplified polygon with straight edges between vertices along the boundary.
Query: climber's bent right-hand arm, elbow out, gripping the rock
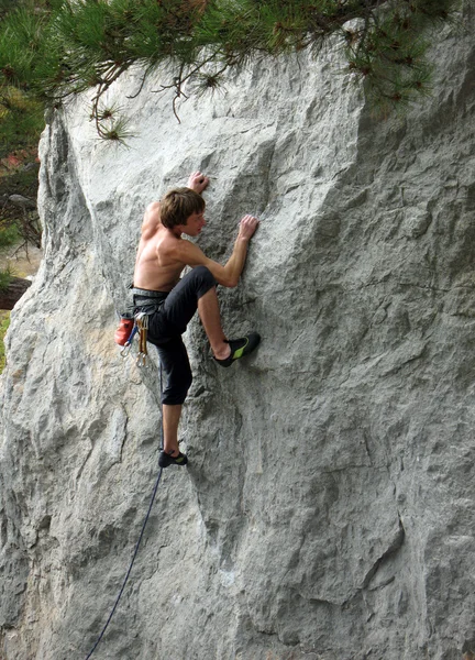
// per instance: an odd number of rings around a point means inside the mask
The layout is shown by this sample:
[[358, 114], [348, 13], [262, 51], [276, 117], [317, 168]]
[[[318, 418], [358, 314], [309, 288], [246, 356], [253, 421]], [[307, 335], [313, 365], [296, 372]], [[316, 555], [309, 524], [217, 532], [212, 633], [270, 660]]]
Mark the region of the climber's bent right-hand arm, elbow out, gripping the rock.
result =
[[212, 258], [208, 258], [198, 245], [195, 245], [195, 243], [191, 243], [190, 241], [178, 241], [177, 245], [174, 248], [174, 252], [176, 252], [177, 258], [187, 266], [206, 266], [210, 270], [218, 284], [233, 288], [234, 286], [238, 286], [239, 278], [244, 268], [248, 242], [257, 229], [257, 218], [244, 216], [240, 222], [240, 230], [234, 243], [234, 249], [224, 266]]

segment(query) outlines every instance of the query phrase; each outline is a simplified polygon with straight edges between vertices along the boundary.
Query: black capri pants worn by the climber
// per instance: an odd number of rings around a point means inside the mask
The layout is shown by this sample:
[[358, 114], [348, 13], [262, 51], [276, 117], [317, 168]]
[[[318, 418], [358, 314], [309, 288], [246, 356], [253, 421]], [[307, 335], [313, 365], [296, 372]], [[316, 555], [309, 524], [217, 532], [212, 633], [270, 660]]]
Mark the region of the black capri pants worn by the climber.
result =
[[170, 290], [162, 307], [148, 317], [147, 340], [155, 344], [165, 374], [162, 403], [180, 405], [192, 382], [181, 334], [198, 309], [198, 300], [216, 286], [206, 266], [196, 266]]

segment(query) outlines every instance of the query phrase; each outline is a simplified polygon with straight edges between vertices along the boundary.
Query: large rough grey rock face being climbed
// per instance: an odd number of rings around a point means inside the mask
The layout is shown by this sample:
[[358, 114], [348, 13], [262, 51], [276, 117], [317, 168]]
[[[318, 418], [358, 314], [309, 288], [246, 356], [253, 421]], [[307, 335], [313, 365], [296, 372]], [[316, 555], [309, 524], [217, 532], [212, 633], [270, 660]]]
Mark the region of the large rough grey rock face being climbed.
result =
[[[45, 256], [2, 376], [1, 650], [85, 658], [157, 474], [157, 361], [113, 344], [145, 206], [201, 169], [203, 250], [262, 224], [219, 371], [194, 321], [187, 469], [164, 472], [95, 658], [462, 660], [475, 652], [475, 29], [441, 33], [434, 94], [372, 117], [339, 53], [268, 62], [173, 116], [126, 101], [130, 148], [79, 100], [41, 145]], [[155, 86], [156, 86], [155, 81]], [[139, 78], [121, 82], [130, 94]], [[468, 657], [468, 656], [466, 656]]]

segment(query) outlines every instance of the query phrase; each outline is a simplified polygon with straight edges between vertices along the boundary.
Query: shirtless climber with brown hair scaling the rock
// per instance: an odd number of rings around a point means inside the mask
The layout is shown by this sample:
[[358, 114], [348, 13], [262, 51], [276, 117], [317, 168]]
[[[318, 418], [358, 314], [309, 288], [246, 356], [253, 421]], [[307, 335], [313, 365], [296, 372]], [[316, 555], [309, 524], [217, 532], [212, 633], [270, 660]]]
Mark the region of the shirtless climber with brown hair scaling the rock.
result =
[[[251, 237], [258, 220], [244, 216], [234, 250], [227, 264], [208, 258], [181, 234], [197, 237], [206, 224], [201, 193], [209, 179], [200, 172], [190, 175], [187, 188], [175, 188], [152, 202], [144, 215], [134, 272], [134, 308], [148, 315], [147, 340], [155, 344], [166, 376], [162, 393], [164, 448], [158, 464], [185, 465], [188, 459], [178, 449], [181, 405], [191, 385], [188, 354], [181, 340], [196, 310], [208, 336], [214, 360], [231, 364], [253, 351], [261, 338], [256, 332], [228, 340], [222, 327], [216, 285], [238, 286]], [[185, 266], [191, 271], [180, 279]]]

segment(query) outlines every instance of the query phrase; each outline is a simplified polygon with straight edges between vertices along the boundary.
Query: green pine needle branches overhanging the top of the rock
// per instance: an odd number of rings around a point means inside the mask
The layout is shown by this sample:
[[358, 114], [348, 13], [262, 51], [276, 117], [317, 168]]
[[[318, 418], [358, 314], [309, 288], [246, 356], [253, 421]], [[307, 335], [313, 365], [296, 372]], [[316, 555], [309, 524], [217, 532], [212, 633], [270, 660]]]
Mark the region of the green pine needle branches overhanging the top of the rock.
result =
[[190, 79], [214, 90], [231, 67], [318, 47], [340, 34], [350, 72], [386, 107], [429, 90], [430, 31], [450, 19], [455, 1], [23, 0], [13, 11], [3, 0], [0, 11], [10, 11], [0, 26], [0, 86], [49, 105], [93, 89], [98, 132], [115, 139], [126, 130], [118, 117], [115, 128], [103, 123], [101, 99], [133, 65], [145, 77], [166, 65], [163, 89], [175, 89], [178, 99]]

